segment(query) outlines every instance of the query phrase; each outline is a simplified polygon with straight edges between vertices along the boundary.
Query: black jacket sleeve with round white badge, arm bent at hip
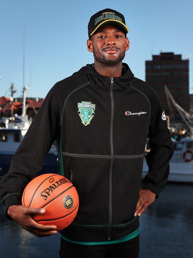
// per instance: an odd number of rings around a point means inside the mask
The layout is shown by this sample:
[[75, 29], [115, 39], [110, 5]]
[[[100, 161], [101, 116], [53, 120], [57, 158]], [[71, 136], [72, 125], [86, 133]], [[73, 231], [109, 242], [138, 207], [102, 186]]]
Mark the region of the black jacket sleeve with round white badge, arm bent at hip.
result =
[[149, 146], [151, 151], [145, 156], [149, 167], [148, 174], [144, 178], [144, 186], [159, 197], [170, 172], [169, 161], [174, 153], [174, 145], [171, 141], [171, 133], [167, 128], [167, 119], [164, 115], [162, 103], [158, 94], [153, 90], [151, 96], [151, 116], [148, 129]]

